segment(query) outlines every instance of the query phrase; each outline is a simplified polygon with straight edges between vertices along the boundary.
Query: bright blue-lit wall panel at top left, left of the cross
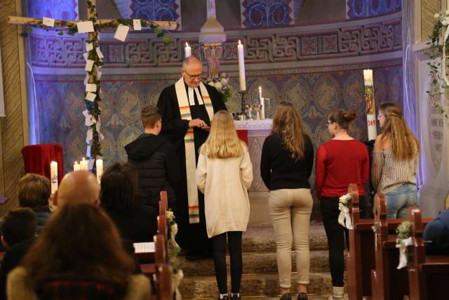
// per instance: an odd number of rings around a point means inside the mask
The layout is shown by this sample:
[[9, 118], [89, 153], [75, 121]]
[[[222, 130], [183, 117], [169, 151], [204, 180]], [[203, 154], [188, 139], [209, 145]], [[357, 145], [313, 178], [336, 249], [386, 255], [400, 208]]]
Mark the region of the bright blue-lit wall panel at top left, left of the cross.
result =
[[[84, 1], [84, 0], [82, 0]], [[78, 20], [78, 0], [27, 1], [27, 15], [32, 18]]]

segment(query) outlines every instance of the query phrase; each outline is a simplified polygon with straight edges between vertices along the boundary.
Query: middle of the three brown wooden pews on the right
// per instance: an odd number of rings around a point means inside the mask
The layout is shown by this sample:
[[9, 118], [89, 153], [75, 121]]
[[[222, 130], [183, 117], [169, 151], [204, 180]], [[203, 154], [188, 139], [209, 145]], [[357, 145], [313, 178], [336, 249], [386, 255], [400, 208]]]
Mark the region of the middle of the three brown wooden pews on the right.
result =
[[387, 204], [385, 197], [377, 193], [374, 198], [375, 268], [371, 270], [373, 300], [403, 299], [408, 294], [406, 268], [397, 269], [399, 251], [396, 248], [397, 235], [389, 235]]

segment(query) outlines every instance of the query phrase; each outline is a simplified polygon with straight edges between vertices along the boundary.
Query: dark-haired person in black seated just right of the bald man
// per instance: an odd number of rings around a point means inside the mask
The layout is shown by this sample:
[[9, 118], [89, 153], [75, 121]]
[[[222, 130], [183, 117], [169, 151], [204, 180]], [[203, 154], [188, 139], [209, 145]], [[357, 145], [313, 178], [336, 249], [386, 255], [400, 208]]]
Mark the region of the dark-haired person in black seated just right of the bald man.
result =
[[101, 178], [101, 206], [119, 229], [121, 237], [133, 242], [152, 242], [157, 233], [154, 206], [138, 201], [138, 171], [116, 162]]

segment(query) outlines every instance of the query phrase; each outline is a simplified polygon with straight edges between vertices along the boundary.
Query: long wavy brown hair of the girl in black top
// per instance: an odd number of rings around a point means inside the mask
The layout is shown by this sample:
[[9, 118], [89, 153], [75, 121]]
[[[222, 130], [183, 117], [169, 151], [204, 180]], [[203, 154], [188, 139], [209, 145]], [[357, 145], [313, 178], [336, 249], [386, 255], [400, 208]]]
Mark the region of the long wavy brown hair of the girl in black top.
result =
[[304, 157], [304, 129], [300, 114], [292, 103], [282, 101], [276, 105], [272, 133], [282, 135], [283, 143], [290, 150], [293, 159]]

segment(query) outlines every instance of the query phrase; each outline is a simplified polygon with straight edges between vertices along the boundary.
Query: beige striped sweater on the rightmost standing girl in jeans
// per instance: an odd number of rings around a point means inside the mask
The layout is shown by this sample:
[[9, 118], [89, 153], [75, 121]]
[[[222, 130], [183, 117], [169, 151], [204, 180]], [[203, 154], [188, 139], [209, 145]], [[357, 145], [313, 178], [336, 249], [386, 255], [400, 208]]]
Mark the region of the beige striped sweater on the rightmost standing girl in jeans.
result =
[[391, 147], [373, 152], [371, 181], [378, 193], [389, 193], [404, 183], [416, 185], [418, 154], [410, 160], [396, 160]]

